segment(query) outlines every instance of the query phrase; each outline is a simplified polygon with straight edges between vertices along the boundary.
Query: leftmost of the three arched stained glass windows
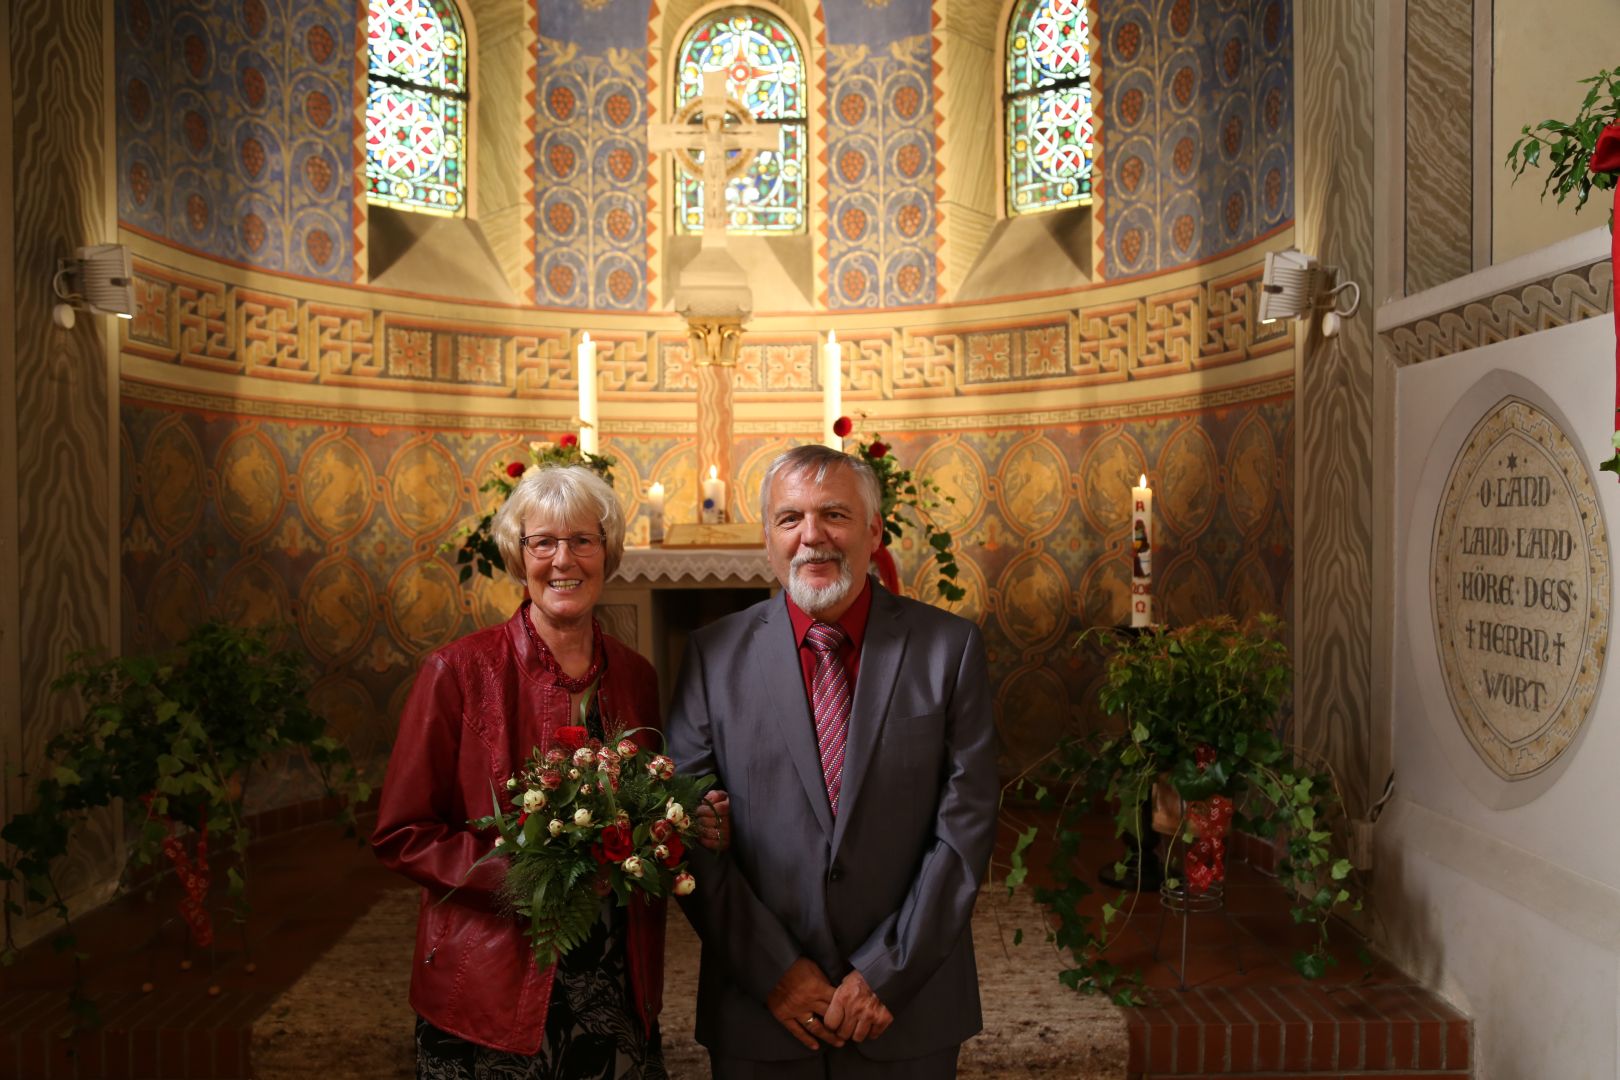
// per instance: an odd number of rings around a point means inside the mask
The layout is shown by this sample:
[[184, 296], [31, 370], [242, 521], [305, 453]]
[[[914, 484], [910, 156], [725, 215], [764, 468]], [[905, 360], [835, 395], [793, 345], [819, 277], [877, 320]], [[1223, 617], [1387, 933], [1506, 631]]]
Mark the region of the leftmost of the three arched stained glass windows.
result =
[[452, 0], [371, 0], [366, 199], [467, 207], [467, 37]]

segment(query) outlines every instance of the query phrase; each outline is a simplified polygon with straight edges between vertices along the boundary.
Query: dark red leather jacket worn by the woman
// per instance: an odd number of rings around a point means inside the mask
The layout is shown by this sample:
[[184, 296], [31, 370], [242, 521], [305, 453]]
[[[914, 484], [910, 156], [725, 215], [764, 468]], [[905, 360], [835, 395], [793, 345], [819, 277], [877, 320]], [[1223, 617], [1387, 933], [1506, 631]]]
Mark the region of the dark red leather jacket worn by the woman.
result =
[[[481, 1046], [539, 1051], [554, 968], [539, 970], [522, 925], [496, 910], [505, 873], [491, 860], [491, 787], [533, 746], [549, 746], [569, 724], [569, 693], [552, 685], [523, 630], [528, 606], [504, 625], [470, 633], [429, 656], [400, 716], [371, 844], [390, 870], [423, 886], [410, 1004], [428, 1023]], [[658, 677], [629, 646], [603, 635], [603, 727], [659, 727]], [[645, 738], [645, 737], [643, 737]], [[449, 900], [439, 899], [455, 889]], [[645, 1030], [663, 1006], [664, 904], [629, 908], [630, 993]]]

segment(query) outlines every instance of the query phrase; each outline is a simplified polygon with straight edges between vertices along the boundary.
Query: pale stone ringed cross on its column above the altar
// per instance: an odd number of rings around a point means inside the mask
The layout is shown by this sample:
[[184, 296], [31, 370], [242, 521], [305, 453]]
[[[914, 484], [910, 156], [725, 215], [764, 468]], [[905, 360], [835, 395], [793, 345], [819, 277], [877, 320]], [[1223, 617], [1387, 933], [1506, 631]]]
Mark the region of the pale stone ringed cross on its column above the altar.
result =
[[[687, 123], [693, 110], [701, 112], [701, 123]], [[740, 115], [727, 125], [729, 110]], [[727, 481], [727, 491], [739, 492], [731, 470], [731, 368], [742, 348], [742, 322], [753, 311], [753, 291], [747, 272], [726, 248], [726, 222], [731, 217], [726, 212], [727, 173], [747, 165], [747, 160], [727, 160], [727, 154], [742, 151], [752, 157], [757, 151], [774, 149], [776, 133], [757, 125], [740, 105], [727, 105], [724, 71], [705, 71], [703, 97], [690, 102], [674, 123], [648, 125], [646, 144], [653, 151], [703, 152], [701, 167], [695, 167], [687, 154], [676, 157], [684, 170], [703, 180], [703, 240], [697, 256], [680, 267], [671, 301], [687, 319], [687, 351], [697, 368], [698, 470], [693, 491], [701, 491], [701, 478], [714, 466]]]

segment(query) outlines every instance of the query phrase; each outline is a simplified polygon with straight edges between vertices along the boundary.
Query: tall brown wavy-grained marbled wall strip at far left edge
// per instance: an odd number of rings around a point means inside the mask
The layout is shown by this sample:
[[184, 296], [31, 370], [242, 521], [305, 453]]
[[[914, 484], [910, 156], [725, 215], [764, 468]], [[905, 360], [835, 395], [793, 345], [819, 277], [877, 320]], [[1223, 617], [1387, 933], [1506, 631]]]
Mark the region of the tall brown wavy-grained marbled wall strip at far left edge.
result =
[[[81, 316], [57, 329], [52, 274], [71, 243], [112, 240], [113, 193], [104, 133], [110, 99], [104, 66], [107, 19], [97, 0], [18, 0], [10, 5], [10, 112], [5, 131], [11, 172], [11, 267], [15, 321], [0, 327], [15, 358], [13, 460], [0, 460], [15, 492], [18, 589], [0, 597], [11, 609], [16, 683], [0, 699], [0, 758], [5, 806], [21, 810], [39, 776], [45, 745], [81, 719], [79, 703], [52, 682], [71, 654], [118, 644], [118, 567], [109, 559], [115, 520], [112, 445], [117, 402], [110, 395], [109, 334], [117, 319]], [[8, 421], [10, 423], [10, 421]], [[122, 829], [117, 814], [92, 814], [70, 853], [53, 868], [65, 897], [81, 899], [117, 873]], [[8, 899], [26, 904], [11, 891]], [[34, 905], [26, 904], [32, 908]], [[55, 916], [15, 920], [23, 941]]]

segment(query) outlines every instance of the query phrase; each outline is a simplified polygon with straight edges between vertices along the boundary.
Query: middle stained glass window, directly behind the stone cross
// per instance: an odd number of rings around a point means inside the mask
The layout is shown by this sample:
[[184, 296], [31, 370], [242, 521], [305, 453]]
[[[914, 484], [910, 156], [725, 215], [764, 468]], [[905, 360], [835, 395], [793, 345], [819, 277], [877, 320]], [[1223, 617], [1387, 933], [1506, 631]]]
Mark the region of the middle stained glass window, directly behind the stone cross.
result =
[[[726, 96], [778, 136], [776, 149], [758, 151], [727, 181], [729, 232], [805, 232], [805, 63], [797, 39], [753, 8], [698, 21], [676, 53], [676, 115], [684, 121], [701, 123], [705, 71], [724, 71]], [[701, 165], [701, 151], [690, 157]], [[676, 172], [676, 214], [679, 232], [703, 232], [703, 183], [684, 168]]]

